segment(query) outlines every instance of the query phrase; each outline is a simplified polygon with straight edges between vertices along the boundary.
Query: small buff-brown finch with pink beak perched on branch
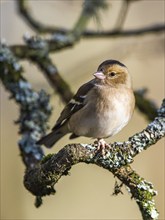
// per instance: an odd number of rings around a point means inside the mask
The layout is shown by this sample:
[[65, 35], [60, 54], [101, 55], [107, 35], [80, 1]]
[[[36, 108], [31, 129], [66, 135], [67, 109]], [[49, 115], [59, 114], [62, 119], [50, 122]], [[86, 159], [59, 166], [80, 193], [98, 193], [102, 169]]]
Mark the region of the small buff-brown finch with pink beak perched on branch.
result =
[[52, 131], [37, 144], [51, 148], [64, 135], [94, 138], [98, 150], [105, 138], [114, 136], [132, 117], [135, 98], [127, 67], [118, 60], [105, 60], [62, 110]]

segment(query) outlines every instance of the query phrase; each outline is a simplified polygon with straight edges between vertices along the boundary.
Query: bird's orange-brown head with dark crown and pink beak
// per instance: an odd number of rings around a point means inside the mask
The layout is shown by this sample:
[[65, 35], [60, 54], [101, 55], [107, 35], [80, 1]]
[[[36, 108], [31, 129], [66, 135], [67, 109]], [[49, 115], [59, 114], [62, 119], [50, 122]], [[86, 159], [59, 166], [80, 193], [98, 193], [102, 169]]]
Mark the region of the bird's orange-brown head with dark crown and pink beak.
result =
[[93, 74], [98, 82], [117, 87], [131, 87], [131, 79], [127, 67], [117, 60], [106, 60], [101, 63]]

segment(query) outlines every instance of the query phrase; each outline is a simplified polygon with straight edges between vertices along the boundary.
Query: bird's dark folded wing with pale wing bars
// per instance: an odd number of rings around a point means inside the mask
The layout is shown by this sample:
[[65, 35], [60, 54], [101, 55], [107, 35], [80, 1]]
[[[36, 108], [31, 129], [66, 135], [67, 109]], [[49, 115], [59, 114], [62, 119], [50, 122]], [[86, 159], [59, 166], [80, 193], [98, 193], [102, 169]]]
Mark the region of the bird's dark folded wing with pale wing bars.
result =
[[82, 85], [70, 102], [65, 106], [52, 130], [59, 129], [75, 112], [84, 106], [87, 93], [95, 86], [93, 80]]

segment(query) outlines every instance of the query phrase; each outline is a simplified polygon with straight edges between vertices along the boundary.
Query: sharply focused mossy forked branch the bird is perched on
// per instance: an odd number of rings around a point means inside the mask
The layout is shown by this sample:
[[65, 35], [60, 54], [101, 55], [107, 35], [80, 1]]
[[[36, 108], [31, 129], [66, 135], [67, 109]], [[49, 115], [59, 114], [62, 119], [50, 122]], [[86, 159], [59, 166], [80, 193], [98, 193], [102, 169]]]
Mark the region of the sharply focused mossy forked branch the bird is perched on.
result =
[[[41, 164], [25, 174], [25, 187], [37, 198], [55, 192], [54, 185], [77, 163], [96, 164], [109, 170], [124, 183], [136, 200], [144, 219], [155, 219], [158, 215], [153, 196], [156, 192], [129, 166], [133, 157], [146, 150], [165, 136], [165, 100], [158, 115], [146, 129], [123, 143], [110, 144], [105, 155], [98, 153], [94, 144], [69, 144], [57, 154], [46, 156]], [[41, 201], [41, 198], [40, 198]], [[39, 205], [39, 204], [38, 204]]]

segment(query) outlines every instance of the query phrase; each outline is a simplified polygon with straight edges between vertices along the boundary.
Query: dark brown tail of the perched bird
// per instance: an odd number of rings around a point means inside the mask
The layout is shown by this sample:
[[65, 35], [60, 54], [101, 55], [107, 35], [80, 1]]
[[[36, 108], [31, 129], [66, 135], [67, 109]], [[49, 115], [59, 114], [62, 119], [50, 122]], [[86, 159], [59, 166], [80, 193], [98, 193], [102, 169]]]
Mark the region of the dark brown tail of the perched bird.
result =
[[52, 131], [43, 138], [41, 138], [39, 141], [37, 141], [37, 144], [43, 144], [47, 148], [51, 148], [60, 138], [62, 138], [66, 133], [63, 133], [61, 131]]

